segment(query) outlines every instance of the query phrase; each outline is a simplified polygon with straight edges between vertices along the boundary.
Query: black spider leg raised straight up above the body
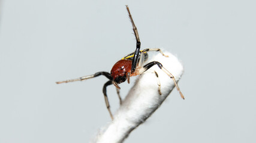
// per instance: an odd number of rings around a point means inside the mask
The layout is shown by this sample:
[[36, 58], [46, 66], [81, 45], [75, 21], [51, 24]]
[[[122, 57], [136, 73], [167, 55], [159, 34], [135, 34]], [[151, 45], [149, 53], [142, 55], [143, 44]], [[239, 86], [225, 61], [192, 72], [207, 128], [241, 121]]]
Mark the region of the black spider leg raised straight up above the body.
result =
[[136, 49], [135, 49], [134, 57], [132, 59], [132, 64], [131, 64], [131, 73], [134, 73], [136, 66], [137, 66], [137, 62], [138, 62], [138, 54], [140, 54], [140, 38], [138, 37], [137, 27], [135, 26], [134, 21], [132, 20], [131, 13], [129, 12], [129, 7], [128, 7], [128, 5], [126, 5], [126, 6], [127, 6], [129, 18], [131, 20], [132, 29], [133, 29], [133, 32], [134, 32], [134, 35], [136, 38]]

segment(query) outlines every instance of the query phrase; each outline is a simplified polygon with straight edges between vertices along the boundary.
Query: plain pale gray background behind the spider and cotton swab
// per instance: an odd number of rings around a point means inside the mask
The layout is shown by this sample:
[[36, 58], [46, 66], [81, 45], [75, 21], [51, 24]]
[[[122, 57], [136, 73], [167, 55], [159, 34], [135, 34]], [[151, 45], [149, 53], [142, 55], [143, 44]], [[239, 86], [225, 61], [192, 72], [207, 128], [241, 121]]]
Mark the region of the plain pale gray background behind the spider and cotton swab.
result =
[[[256, 3], [227, 0], [1, 1], [0, 142], [88, 142], [110, 121], [106, 77], [55, 82], [110, 71], [134, 51], [126, 4], [141, 48], [182, 61], [186, 100], [173, 91], [125, 142], [256, 142]], [[132, 85], [120, 86], [124, 98]]]

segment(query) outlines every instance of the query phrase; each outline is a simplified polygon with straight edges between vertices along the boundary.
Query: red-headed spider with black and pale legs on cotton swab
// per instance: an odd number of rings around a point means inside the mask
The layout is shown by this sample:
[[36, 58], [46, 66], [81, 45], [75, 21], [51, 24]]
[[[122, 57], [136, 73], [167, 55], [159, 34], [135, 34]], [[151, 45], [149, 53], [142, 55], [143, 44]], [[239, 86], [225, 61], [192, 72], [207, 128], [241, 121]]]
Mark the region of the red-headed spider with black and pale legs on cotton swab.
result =
[[[120, 104], [122, 104], [122, 100], [121, 97], [119, 95], [119, 89], [121, 89], [118, 84], [125, 82], [127, 80], [127, 82], [129, 83], [129, 78], [131, 76], [137, 76], [141, 73], [144, 73], [144, 71], [150, 69], [150, 67], [157, 65], [162, 71], [164, 71], [171, 79], [173, 79], [174, 85], [177, 88], [177, 91], [179, 91], [180, 96], [185, 99], [183, 97], [182, 92], [179, 89], [179, 86], [177, 85], [176, 79], [174, 78], [173, 74], [171, 74], [168, 70], [166, 70], [161, 63], [159, 63], [158, 61], [152, 61], [150, 63], [147, 63], [145, 65], [144, 62], [147, 60], [148, 58], [148, 54], [147, 52], [149, 51], [158, 51], [160, 52], [163, 56], [168, 57], [168, 55], [164, 55], [164, 53], [161, 51], [161, 49], [158, 48], [154, 48], [154, 49], [143, 49], [140, 50], [140, 38], [138, 37], [138, 30], [137, 27], [134, 24], [134, 21], [132, 20], [131, 17], [131, 13], [129, 11], [129, 7], [128, 5], [126, 5], [127, 11], [128, 11], [128, 15], [129, 18], [131, 20], [131, 24], [132, 24], [132, 29], [134, 31], [134, 35], [135, 35], [135, 39], [136, 39], [136, 49], [134, 52], [132, 52], [131, 54], [128, 54], [127, 56], [125, 56], [124, 58], [122, 58], [121, 60], [119, 60], [118, 62], [116, 62], [116, 64], [114, 64], [114, 66], [112, 67], [112, 70], [110, 71], [110, 73], [106, 72], [106, 71], [100, 71], [97, 72], [95, 74], [89, 75], [89, 76], [82, 76], [79, 77], [77, 79], [69, 79], [69, 80], [64, 80], [61, 82], [56, 82], [57, 84], [59, 83], [67, 83], [67, 82], [75, 82], [75, 81], [82, 81], [82, 80], [86, 80], [86, 79], [91, 79], [93, 77], [97, 77], [97, 76], [106, 76], [107, 79], [109, 79], [109, 81], [107, 81], [104, 86], [103, 86], [103, 94], [104, 94], [104, 99], [106, 102], [106, 106], [107, 106], [107, 110], [109, 111], [110, 117], [113, 118], [113, 114], [110, 110], [110, 104], [109, 104], [109, 99], [107, 98], [107, 86], [109, 85], [115, 85], [116, 86], [116, 90], [118, 92], [118, 97], [120, 100]], [[158, 74], [155, 71], [155, 75], [156, 77], [158, 77]], [[160, 87], [160, 83], [159, 83], [159, 79], [158, 79], [158, 92], [159, 95], [161, 95], [161, 87]]]

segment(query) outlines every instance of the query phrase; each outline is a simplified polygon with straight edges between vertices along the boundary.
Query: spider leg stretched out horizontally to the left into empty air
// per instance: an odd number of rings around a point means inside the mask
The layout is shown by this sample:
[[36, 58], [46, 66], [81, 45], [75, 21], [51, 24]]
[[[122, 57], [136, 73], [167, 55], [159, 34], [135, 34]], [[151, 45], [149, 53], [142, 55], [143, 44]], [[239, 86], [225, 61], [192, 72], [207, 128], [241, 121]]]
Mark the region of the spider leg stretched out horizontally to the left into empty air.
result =
[[98, 72], [98, 73], [95, 73], [95, 74], [92, 74], [92, 75], [89, 75], [89, 76], [82, 76], [82, 77], [79, 77], [77, 79], [68, 79], [68, 80], [64, 80], [64, 81], [56, 82], [56, 83], [59, 84], [59, 83], [82, 81], [82, 80], [91, 79], [93, 77], [97, 77], [97, 76], [100, 76], [100, 75], [106, 76], [109, 80], [113, 80], [113, 77], [111, 76], [110, 73], [108, 73], [106, 71], [101, 71], [101, 72]]

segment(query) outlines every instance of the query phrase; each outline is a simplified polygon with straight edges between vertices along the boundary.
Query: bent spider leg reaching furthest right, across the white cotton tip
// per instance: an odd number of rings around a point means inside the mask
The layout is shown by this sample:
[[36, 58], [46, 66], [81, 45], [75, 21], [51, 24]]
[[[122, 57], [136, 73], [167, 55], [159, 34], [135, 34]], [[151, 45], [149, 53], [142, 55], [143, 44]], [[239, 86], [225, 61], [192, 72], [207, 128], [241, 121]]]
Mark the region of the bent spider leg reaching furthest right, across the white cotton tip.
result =
[[174, 78], [173, 74], [171, 74], [168, 70], [166, 70], [161, 63], [159, 63], [158, 61], [152, 61], [148, 64], [146, 64], [145, 66], [143, 66], [143, 68], [140, 70], [140, 73], [144, 73], [144, 71], [150, 69], [150, 67], [157, 65], [162, 71], [164, 71], [171, 79], [173, 79], [174, 85], [177, 88], [177, 91], [179, 91], [180, 97], [183, 98], [183, 100], [185, 100], [182, 92], [179, 89], [179, 86], [177, 85], [176, 79]]

